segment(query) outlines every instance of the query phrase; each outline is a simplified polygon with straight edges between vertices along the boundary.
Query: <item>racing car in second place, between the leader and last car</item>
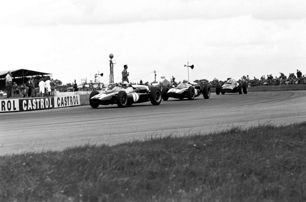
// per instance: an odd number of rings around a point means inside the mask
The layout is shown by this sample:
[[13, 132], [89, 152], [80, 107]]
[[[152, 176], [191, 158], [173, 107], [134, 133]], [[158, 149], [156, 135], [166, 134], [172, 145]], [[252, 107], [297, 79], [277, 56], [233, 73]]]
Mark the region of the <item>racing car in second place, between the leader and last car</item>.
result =
[[[185, 80], [184, 80], [185, 81]], [[195, 82], [183, 82], [178, 84], [177, 87], [169, 87], [164, 86], [162, 88], [162, 99], [168, 100], [170, 98], [178, 98], [184, 99], [188, 98], [188, 100], [193, 100], [195, 97], [203, 94], [204, 99], [208, 99], [211, 95], [210, 85], [204, 84], [202, 88], [198, 83]]]

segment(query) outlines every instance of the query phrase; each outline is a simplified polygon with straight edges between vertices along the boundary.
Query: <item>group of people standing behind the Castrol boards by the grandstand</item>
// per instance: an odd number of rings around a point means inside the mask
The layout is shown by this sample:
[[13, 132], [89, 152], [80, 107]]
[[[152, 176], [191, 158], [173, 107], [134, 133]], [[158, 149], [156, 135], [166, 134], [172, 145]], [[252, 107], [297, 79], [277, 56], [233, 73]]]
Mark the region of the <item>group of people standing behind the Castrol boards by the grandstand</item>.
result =
[[[17, 97], [19, 92], [19, 87], [17, 84], [13, 82], [12, 74], [11, 72], [7, 72], [7, 75], [5, 77], [6, 80], [6, 96], [9, 97]], [[55, 82], [53, 79], [50, 80], [50, 77], [42, 78], [39, 81], [38, 84], [39, 87], [39, 93], [40, 97], [43, 97], [45, 94], [45, 91], [48, 92], [48, 96], [54, 96], [54, 90], [55, 90]], [[24, 97], [27, 96], [28, 98], [35, 97], [35, 82], [33, 78], [29, 78], [29, 80], [25, 83], [25, 86], [22, 86], [22, 89], [24, 90]]]

